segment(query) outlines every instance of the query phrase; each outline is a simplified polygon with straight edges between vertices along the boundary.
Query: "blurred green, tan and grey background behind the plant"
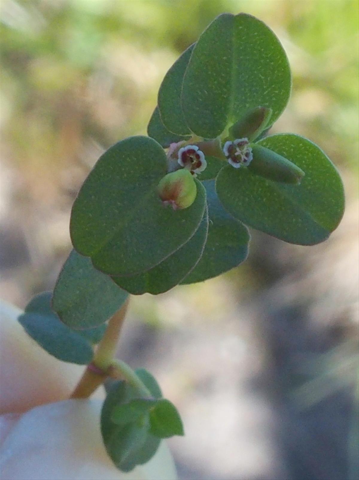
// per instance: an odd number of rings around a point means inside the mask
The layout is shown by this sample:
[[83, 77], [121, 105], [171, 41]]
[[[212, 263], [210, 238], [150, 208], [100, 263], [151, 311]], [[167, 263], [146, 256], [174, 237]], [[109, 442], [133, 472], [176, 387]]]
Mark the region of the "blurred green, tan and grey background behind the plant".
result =
[[324, 149], [347, 208], [328, 241], [253, 231], [246, 263], [133, 297], [119, 354], [179, 408], [180, 479], [358, 479], [357, 0], [1, 0], [1, 298], [52, 289], [104, 149], [145, 134], [162, 78], [221, 12], [248, 12], [293, 72], [273, 132]]

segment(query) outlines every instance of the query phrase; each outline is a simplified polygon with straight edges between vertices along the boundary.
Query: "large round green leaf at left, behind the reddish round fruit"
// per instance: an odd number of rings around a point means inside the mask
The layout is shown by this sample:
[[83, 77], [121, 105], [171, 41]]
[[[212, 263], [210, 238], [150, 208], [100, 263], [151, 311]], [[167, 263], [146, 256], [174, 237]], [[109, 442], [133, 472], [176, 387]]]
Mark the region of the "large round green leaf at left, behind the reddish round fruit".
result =
[[70, 220], [74, 248], [98, 270], [134, 275], [159, 264], [189, 240], [205, 209], [205, 190], [188, 208], [165, 207], [157, 192], [166, 155], [148, 137], [130, 137], [100, 157], [83, 183]]

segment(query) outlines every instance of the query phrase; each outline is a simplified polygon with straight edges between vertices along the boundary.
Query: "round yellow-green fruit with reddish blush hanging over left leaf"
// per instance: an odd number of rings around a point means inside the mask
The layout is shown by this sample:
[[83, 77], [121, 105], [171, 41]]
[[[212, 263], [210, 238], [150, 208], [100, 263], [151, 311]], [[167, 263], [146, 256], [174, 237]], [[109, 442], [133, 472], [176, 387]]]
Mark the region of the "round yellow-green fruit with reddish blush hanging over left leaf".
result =
[[172, 205], [174, 210], [188, 208], [196, 199], [196, 181], [185, 168], [167, 173], [158, 184], [158, 194], [163, 204]]

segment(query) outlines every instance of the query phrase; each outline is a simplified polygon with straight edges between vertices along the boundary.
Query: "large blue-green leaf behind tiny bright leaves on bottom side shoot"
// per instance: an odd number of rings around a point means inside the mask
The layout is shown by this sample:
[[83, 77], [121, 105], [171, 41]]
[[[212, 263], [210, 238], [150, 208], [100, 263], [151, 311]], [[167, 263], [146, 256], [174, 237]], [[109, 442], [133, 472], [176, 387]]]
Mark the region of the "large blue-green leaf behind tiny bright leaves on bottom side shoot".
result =
[[110, 388], [101, 411], [101, 433], [107, 453], [116, 467], [130, 471], [142, 465], [156, 453], [160, 439], [149, 432], [146, 418], [138, 422], [117, 425], [111, 420], [114, 408], [134, 395], [125, 382], [115, 382]]

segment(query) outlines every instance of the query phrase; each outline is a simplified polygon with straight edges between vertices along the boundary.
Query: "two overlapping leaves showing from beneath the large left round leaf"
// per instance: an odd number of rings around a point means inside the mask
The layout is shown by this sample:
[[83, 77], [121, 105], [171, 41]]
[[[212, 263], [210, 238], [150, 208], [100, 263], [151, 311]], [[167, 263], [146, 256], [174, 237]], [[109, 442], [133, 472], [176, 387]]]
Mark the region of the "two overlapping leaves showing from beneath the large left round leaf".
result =
[[193, 237], [151, 270], [136, 275], [113, 277], [132, 294], [158, 294], [178, 283], [201, 282], [241, 264], [248, 254], [249, 232], [229, 215], [218, 201], [214, 181], [203, 182], [207, 208]]

